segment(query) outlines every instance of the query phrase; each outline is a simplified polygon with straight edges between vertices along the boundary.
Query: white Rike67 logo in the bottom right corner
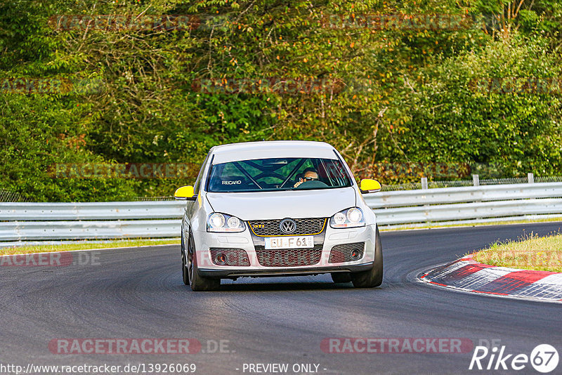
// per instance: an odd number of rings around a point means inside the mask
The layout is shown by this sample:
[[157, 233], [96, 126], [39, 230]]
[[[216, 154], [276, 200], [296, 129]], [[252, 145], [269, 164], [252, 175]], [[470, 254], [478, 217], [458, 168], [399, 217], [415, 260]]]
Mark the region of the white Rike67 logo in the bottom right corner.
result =
[[476, 346], [469, 370], [521, 370], [531, 365], [535, 370], [547, 374], [558, 367], [558, 351], [554, 346], [541, 344], [536, 346], [530, 355], [526, 354], [507, 354], [506, 347], [488, 349], [485, 346]]

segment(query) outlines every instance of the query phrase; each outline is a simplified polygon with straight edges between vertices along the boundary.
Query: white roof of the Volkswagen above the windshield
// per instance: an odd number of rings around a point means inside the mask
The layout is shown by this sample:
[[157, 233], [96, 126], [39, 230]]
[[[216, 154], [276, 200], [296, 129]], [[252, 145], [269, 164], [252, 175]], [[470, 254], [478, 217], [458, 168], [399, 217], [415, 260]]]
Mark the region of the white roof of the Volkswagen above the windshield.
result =
[[264, 140], [230, 143], [211, 148], [213, 164], [275, 157], [318, 157], [337, 159], [334, 147], [311, 140]]

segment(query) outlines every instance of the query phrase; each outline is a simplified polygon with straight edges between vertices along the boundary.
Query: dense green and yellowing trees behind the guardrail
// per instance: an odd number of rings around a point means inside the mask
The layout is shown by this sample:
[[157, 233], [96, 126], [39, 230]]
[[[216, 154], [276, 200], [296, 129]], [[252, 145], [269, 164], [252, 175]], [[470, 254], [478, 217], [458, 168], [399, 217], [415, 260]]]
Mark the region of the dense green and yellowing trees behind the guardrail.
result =
[[[59, 15], [190, 22], [86, 29]], [[361, 21], [381, 15], [462, 22]], [[555, 0], [0, 2], [0, 189], [46, 201], [171, 195], [197, 168], [183, 178], [53, 178], [53, 166], [196, 165], [213, 145], [262, 139], [327, 141], [361, 177], [381, 163], [560, 175], [561, 16]], [[18, 78], [74, 86], [18, 91]]]

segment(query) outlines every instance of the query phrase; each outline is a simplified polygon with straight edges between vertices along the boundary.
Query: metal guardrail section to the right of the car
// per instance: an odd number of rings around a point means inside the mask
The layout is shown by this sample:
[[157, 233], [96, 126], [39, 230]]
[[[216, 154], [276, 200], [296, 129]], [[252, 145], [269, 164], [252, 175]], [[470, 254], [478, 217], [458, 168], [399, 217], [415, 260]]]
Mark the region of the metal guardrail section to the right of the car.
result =
[[[382, 227], [562, 217], [562, 183], [404, 190], [365, 195]], [[538, 217], [537, 217], [538, 216]]]

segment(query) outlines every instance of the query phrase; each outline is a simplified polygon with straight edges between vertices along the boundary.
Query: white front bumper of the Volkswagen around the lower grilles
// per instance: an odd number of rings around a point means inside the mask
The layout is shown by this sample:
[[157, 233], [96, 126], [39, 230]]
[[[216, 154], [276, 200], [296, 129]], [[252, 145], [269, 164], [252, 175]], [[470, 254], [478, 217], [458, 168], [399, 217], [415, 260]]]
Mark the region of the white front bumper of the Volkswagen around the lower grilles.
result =
[[[311, 265], [293, 267], [266, 266], [259, 262], [256, 249], [262, 249], [263, 237], [256, 239], [249, 229], [240, 233], [211, 233], [195, 231], [195, 249], [197, 253], [197, 268], [204, 277], [235, 278], [235, 277], [268, 277], [268, 276], [297, 276], [317, 275], [331, 272], [361, 272], [369, 270], [374, 265], [374, 244], [376, 224], [362, 228], [334, 229], [327, 226], [319, 235], [315, 235], [315, 246], [321, 246], [320, 261]], [[364, 242], [363, 256], [356, 261], [334, 263], [330, 261], [332, 247], [341, 244]], [[242, 249], [246, 251], [249, 265], [216, 265], [211, 260], [209, 249]]]

